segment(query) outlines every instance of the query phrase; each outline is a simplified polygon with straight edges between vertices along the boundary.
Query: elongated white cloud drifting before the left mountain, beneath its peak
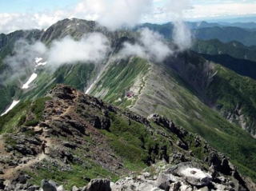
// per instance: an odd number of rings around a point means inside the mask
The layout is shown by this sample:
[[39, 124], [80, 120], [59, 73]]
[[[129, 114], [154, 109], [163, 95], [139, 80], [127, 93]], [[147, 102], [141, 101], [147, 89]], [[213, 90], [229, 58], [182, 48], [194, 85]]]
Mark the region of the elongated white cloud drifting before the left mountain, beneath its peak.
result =
[[67, 36], [54, 41], [50, 47], [42, 42], [29, 43], [21, 40], [15, 43], [13, 55], [7, 56], [4, 62], [12, 69], [13, 77], [17, 77], [34, 70], [35, 58], [43, 58], [50, 63], [47, 66], [56, 69], [76, 62], [98, 64], [103, 62], [109, 51], [109, 40], [99, 33], [87, 34], [79, 41]]

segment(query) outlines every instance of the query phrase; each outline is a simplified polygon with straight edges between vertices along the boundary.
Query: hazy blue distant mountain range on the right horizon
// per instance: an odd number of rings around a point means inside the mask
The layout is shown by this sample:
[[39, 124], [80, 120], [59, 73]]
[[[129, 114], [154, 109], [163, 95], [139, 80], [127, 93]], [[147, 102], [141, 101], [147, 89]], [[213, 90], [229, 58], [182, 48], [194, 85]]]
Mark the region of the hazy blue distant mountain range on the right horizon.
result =
[[[256, 46], [255, 23], [208, 23], [187, 22], [193, 38], [200, 40], [218, 39], [221, 42], [241, 42], [246, 46]], [[148, 27], [150, 30], [158, 31], [165, 38], [171, 38], [173, 31], [172, 23], [162, 25], [145, 23], [140, 27]]]

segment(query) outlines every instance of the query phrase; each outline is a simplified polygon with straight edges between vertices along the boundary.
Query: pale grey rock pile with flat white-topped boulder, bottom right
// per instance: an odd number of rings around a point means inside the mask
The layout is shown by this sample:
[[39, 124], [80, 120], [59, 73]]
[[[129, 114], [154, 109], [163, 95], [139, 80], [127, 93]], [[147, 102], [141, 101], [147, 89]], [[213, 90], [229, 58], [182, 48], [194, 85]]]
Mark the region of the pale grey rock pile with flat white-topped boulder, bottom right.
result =
[[238, 181], [234, 181], [230, 177], [220, 175], [218, 180], [213, 179], [210, 171], [202, 166], [194, 166], [192, 163], [180, 163], [167, 169], [158, 170], [160, 173], [157, 175], [142, 173], [137, 177], [126, 177], [112, 184], [111, 188], [114, 191], [247, 190], [246, 188], [239, 187]]

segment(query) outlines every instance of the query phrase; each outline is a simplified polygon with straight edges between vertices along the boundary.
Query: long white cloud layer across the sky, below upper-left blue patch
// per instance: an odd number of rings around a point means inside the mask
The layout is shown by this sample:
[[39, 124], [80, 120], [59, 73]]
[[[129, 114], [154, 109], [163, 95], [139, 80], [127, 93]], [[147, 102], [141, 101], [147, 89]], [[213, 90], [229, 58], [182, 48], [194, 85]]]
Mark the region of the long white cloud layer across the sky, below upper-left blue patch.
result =
[[[170, 4], [166, 6], [167, 1]], [[186, 19], [256, 14], [256, 2], [252, 0], [192, 0], [191, 3], [187, 0], [81, 0], [70, 9], [35, 14], [0, 13], [0, 33], [44, 29], [63, 18], [98, 20], [111, 29], [138, 22], [169, 22], [173, 17], [166, 14], [166, 8], [177, 12], [181, 7], [191, 8], [184, 10]]]

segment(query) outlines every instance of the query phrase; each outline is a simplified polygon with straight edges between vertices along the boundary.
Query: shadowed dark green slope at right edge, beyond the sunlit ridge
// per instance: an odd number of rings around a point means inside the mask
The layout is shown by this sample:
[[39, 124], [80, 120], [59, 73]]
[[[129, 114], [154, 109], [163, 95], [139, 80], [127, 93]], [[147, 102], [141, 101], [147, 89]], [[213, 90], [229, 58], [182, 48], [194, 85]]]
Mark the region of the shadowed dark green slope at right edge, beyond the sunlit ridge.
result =
[[[248, 131], [256, 133], [256, 82], [251, 78], [239, 76], [231, 70], [217, 66], [217, 76], [207, 90], [207, 96], [226, 117], [236, 113], [236, 108], [245, 115]], [[218, 90], [218, 91], [217, 91]]]

